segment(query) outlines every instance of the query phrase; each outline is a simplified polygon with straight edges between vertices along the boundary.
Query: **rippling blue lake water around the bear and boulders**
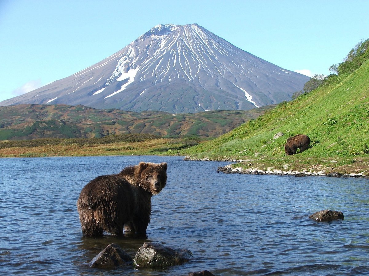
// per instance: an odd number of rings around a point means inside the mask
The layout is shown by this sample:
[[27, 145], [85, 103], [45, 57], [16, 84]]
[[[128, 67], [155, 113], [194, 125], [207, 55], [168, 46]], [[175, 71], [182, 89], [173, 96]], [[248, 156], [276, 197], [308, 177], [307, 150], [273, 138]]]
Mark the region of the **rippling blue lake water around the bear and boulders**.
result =
[[[76, 209], [83, 186], [140, 161], [168, 163], [148, 238], [83, 237]], [[0, 159], [0, 275], [369, 273], [369, 180], [217, 173], [226, 164], [158, 156]], [[308, 219], [323, 209], [345, 219]], [[110, 243], [133, 257], [145, 241], [186, 248], [194, 259], [163, 270], [87, 265]]]

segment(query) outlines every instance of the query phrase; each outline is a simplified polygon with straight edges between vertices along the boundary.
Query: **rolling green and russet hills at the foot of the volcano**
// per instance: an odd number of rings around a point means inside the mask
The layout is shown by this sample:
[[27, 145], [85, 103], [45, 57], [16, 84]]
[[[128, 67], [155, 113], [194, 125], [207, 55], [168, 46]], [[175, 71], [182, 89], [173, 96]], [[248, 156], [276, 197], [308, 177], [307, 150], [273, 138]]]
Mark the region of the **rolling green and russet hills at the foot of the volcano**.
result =
[[273, 107], [172, 114], [100, 110], [82, 105], [1, 106], [0, 140], [101, 138], [111, 134], [214, 138]]

